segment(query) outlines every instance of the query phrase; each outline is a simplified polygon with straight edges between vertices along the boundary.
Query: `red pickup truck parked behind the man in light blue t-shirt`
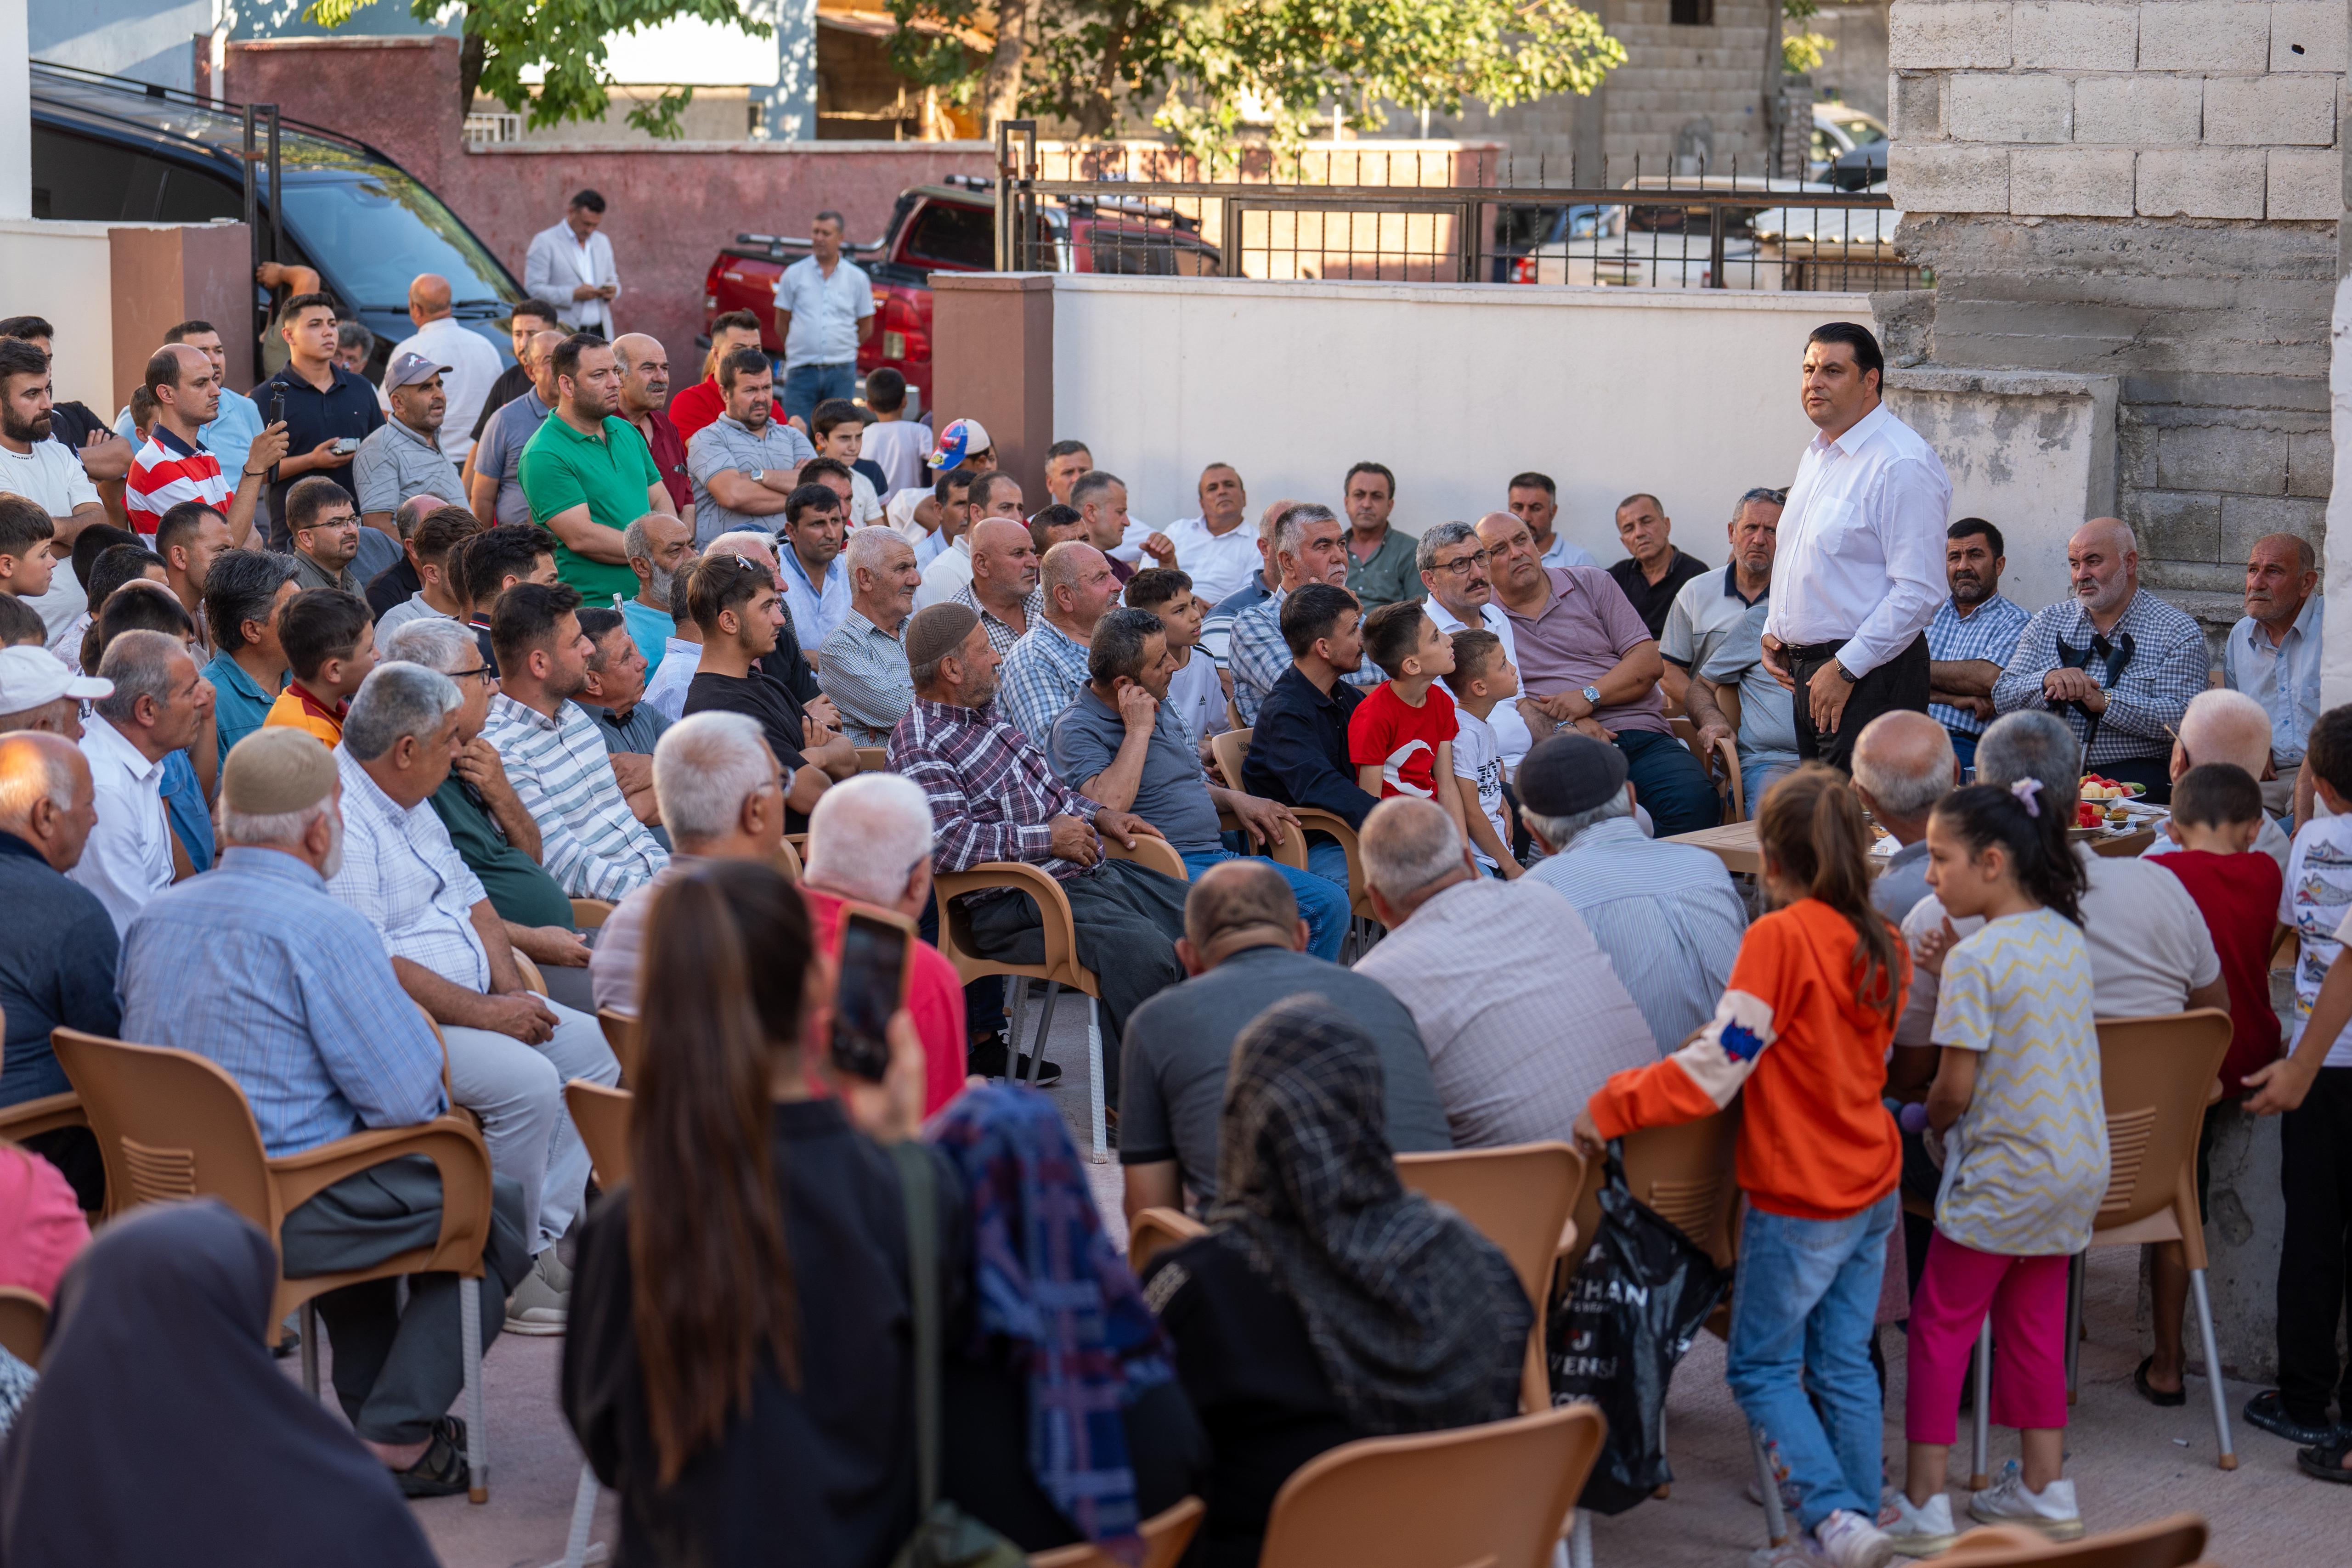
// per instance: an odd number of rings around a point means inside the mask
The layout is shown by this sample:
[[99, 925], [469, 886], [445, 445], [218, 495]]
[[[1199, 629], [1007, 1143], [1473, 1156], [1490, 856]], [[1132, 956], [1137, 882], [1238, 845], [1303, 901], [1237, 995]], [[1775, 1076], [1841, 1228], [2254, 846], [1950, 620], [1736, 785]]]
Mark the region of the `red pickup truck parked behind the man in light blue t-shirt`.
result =
[[[908, 414], [931, 407], [931, 273], [988, 273], [997, 263], [995, 181], [964, 176], [898, 193], [889, 233], [844, 244], [875, 287], [875, 334], [858, 348], [858, 371], [891, 367], [917, 390]], [[1200, 237], [1200, 221], [1160, 202], [1070, 197], [1037, 205], [1040, 244], [1058, 273], [1216, 277], [1223, 254]], [[750, 310], [760, 343], [776, 341], [776, 275], [809, 254], [807, 240], [736, 235], [703, 280], [703, 341], [710, 317]]]

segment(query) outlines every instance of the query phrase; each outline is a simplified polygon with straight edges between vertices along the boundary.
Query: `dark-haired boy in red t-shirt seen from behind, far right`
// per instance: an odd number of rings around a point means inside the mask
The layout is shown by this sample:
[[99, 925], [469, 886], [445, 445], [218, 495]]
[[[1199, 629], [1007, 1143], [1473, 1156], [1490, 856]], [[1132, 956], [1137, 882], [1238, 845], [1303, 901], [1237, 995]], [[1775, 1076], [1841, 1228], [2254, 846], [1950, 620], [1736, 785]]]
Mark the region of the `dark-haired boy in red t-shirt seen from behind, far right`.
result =
[[[2230, 1051], [2220, 1058], [2220, 1093], [2237, 1100], [2244, 1077], [2279, 1060], [2279, 1016], [2270, 1006], [2270, 947], [2277, 936], [2279, 863], [2253, 851], [2263, 832], [2263, 785], [2230, 762], [2206, 762], [2173, 785], [2173, 820], [2164, 827], [2180, 849], [2157, 856], [2157, 865], [2180, 877], [2197, 912], [2213, 933], [2220, 976], [2230, 987]], [[2197, 1138], [2197, 1211], [2206, 1201], [2206, 1161], [2213, 1152], [2213, 1114]], [[2190, 1295], [2190, 1267], [2178, 1241], [2161, 1241], [2147, 1260], [2154, 1307], [2157, 1354], [2140, 1361], [2131, 1382], [2150, 1403], [2178, 1406], [2180, 1309]]]

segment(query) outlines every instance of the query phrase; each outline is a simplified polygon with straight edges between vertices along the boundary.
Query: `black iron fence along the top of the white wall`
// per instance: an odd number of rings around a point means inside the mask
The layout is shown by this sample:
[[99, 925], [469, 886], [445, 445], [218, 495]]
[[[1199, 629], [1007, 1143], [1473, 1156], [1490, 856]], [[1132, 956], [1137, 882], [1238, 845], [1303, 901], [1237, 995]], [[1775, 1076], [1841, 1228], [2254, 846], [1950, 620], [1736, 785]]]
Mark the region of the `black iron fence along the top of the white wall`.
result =
[[[1515, 176], [1534, 162], [1534, 183]], [[1541, 160], [1334, 143], [1204, 169], [1164, 148], [997, 127], [997, 268], [1637, 289], [1917, 289], [1884, 186], [1644, 172], [1552, 186]], [[1287, 179], [1284, 179], [1287, 176]]]

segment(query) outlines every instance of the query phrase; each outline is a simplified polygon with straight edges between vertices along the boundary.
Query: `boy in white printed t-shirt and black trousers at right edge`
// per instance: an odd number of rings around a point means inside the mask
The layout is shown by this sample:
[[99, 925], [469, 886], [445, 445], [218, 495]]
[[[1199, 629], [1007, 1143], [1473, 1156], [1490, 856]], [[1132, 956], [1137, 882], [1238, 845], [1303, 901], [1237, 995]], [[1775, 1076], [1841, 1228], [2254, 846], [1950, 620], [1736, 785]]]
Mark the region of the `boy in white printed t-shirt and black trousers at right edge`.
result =
[[[2286, 1232], [2279, 1239], [2279, 1387], [2246, 1403], [2246, 1420], [2296, 1443], [2303, 1458], [2343, 1467], [2352, 1448], [2352, 1373], [2336, 1354], [2352, 1274], [2352, 708], [2331, 708], [2312, 724], [2305, 764], [2333, 816], [2296, 832], [2286, 858], [2279, 919], [2296, 929], [2296, 1009], [2286, 1020], [2288, 1056], [2246, 1074], [2246, 1110], [2279, 1114], [2279, 1190]], [[2328, 1420], [2328, 1401], [2347, 1406]]]

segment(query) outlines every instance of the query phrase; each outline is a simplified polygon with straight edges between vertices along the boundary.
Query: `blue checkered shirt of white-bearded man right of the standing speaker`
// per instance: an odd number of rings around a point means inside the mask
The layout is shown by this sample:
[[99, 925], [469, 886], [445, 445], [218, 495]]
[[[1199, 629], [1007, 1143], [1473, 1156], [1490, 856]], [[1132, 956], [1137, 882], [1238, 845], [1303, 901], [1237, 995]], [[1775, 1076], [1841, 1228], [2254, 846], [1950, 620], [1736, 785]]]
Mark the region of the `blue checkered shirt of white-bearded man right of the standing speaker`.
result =
[[[2096, 630], [2082, 599], [2034, 611], [2034, 618], [2025, 623], [2025, 635], [2018, 637], [2016, 656], [2002, 679], [1992, 684], [1992, 705], [2002, 712], [2044, 708], [2049, 698], [2042, 696], [2042, 677], [2058, 668], [2058, 644], [2082, 649]], [[2145, 588], [2124, 607], [2124, 618], [2107, 637], [2117, 651], [2122, 637], [2131, 637], [2131, 663], [2117, 672], [2112, 684], [2105, 658], [2093, 654], [2089, 663], [2091, 679], [2107, 689], [2107, 712], [2098, 719], [2098, 738], [2082, 759], [2084, 769], [2124, 757], [2171, 755], [2169, 731], [2180, 726], [2190, 698], [2213, 684], [2213, 661], [2206, 654], [2204, 632]], [[2089, 722], [2072, 705], [2060, 708], [2058, 717], [2074, 731], [2074, 741], [2089, 731]]]

